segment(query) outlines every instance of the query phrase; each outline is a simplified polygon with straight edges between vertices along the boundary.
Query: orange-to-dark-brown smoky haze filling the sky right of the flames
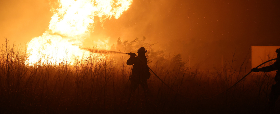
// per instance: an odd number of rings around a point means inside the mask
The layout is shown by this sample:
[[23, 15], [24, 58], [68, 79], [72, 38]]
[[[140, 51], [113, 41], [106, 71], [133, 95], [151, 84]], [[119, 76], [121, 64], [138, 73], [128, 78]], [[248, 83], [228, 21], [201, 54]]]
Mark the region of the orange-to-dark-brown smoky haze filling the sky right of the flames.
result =
[[[279, 2], [251, 1], [134, 1], [118, 20], [104, 23], [91, 37], [132, 41], [145, 36], [155, 49], [190, 59], [190, 66], [212, 68], [235, 58], [241, 62], [252, 45], [279, 45]], [[271, 8], [269, 8], [271, 7]], [[274, 13], [272, 13], [274, 12]], [[275, 13], [277, 12], [277, 13]], [[269, 18], [263, 18], [269, 17]], [[100, 24], [101, 25], [101, 24]], [[112, 29], [117, 27], [117, 29]], [[257, 35], [258, 34], [258, 35]], [[270, 40], [268, 40], [270, 39]], [[91, 42], [89, 43], [89, 45]]]

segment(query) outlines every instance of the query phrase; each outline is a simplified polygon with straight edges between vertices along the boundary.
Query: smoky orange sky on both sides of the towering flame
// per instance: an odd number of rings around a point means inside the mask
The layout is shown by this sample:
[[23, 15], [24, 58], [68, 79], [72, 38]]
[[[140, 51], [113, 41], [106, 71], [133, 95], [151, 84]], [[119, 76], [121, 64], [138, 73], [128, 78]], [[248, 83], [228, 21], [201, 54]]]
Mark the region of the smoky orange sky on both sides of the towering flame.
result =
[[[52, 3], [54, 3], [52, 1]], [[25, 45], [48, 29], [53, 13], [48, 0], [0, 1], [0, 43]], [[181, 53], [193, 61], [243, 57], [251, 45], [279, 45], [279, 1], [134, 0], [119, 19], [95, 23], [85, 46], [97, 38], [133, 40], [145, 36], [155, 48]], [[97, 19], [97, 18], [96, 18]]]

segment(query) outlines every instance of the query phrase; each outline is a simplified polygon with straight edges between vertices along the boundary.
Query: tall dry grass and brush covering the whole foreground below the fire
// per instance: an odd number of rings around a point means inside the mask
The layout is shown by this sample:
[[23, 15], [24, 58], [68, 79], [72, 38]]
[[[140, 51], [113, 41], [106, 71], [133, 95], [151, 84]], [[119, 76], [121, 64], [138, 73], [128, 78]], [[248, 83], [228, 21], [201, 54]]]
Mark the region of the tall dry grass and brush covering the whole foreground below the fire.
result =
[[[136, 39], [118, 40], [114, 48], [151, 47]], [[4, 44], [0, 56], [0, 113], [266, 113], [275, 72], [247, 76], [229, 91], [211, 98], [241, 79], [250, 68], [249, 56], [239, 67], [234, 59], [220, 68], [190, 68], [178, 55], [150, 48], [155, 75], [148, 79], [151, 95], [141, 86], [130, 96], [131, 66], [127, 55], [91, 54], [72, 65], [40, 61], [29, 65], [22, 48]], [[233, 57], [234, 58], [234, 57]], [[268, 65], [268, 64], [267, 64]], [[247, 72], [246, 72], [247, 71]], [[280, 107], [277, 102], [276, 107]], [[279, 109], [275, 109], [279, 112]]]

